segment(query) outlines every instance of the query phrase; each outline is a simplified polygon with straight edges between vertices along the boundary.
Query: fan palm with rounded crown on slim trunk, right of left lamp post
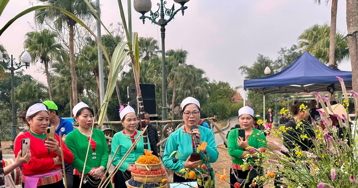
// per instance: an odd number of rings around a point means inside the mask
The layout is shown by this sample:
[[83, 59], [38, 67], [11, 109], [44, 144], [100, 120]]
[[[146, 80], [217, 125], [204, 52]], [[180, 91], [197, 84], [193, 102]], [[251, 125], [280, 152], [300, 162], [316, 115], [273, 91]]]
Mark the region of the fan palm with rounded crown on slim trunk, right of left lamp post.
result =
[[43, 63], [45, 66], [48, 94], [50, 96], [50, 100], [52, 101], [53, 98], [48, 67], [53, 59], [60, 60], [62, 59], [61, 56], [64, 54], [62, 45], [56, 42], [58, 35], [56, 32], [44, 29], [40, 32], [28, 32], [25, 36], [26, 39], [24, 41], [24, 48], [30, 53], [33, 63], [40, 61], [40, 63]]

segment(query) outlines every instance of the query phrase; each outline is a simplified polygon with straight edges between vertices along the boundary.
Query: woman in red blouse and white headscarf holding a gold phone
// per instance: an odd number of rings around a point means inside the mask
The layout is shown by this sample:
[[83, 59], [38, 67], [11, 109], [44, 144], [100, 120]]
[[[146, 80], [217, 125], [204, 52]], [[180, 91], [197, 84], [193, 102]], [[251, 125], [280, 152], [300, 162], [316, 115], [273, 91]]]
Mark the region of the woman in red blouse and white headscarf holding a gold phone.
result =
[[[45, 130], [49, 125], [47, 108], [43, 103], [35, 103], [26, 111], [26, 121], [29, 131], [15, 139], [14, 153], [17, 156], [21, 150], [23, 139], [30, 138], [30, 160], [22, 164], [23, 188], [63, 188], [62, 159], [59, 136], [46, 139]], [[65, 163], [73, 162], [73, 155], [63, 144], [63, 160]]]

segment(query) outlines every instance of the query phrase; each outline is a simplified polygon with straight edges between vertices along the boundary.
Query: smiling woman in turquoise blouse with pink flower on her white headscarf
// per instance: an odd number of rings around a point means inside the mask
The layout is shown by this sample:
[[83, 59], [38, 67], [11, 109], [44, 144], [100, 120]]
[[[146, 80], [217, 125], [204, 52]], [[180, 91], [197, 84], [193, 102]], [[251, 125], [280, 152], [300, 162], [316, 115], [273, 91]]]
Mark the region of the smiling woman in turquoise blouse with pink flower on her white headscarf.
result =
[[[113, 165], [117, 166], [120, 160], [127, 153], [129, 148], [132, 146], [134, 141], [138, 138], [142, 131], [136, 130], [138, 119], [135, 114], [134, 109], [131, 106], [121, 106], [119, 109], [119, 116], [121, 118], [121, 123], [124, 129], [120, 132], [117, 132], [113, 136], [112, 140], [112, 149], [111, 156], [115, 155], [115, 152], [120, 145], [120, 148], [117, 151], [117, 154], [114, 157]], [[149, 144], [148, 144], [149, 148]], [[134, 149], [131, 151], [127, 159], [121, 165], [117, 173], [114, 175], [114, 187], [127, 187], [126, 181], [131, 178], [131, 172], [134, 166], [134, 163], [139, 158], [140, 155], [144, 154], [144, 144], [143, 137], [140, 138], [139, 142], [134, 146]]]

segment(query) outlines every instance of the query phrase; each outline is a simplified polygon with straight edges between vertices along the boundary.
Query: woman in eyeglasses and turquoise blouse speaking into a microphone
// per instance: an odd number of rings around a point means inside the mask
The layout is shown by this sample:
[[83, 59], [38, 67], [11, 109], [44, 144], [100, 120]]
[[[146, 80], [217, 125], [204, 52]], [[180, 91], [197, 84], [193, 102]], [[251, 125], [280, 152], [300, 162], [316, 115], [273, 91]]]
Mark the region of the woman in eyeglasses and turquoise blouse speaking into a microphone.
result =
[[[216, 162], [219, 153], [216, 149], [213, 132], [203, 126], [198, 126], [200, 120], [199, 101], [193, 97], [187, 97], [183, 100], [181, 106], [184, 125], [169, 135], [165, 144], [163, 164], [174, 171], [173, 182], [194, 182], [197, 181], [196, 176], [203, 170], [203, 168], [198, 168], [201, 160], [203, 160], [205, 168], [212, 170], [212, 168], [209, 168], [210, 163]], [[207, 143], [205, 151], [200, 151], [200, 158], [193, 161], [195, 154], [192, 156], [192, 153], [197, 151], [197, 143], [202, 144], [204, 141]], [[177, 151], [178, 157], [176, 159], [174, 159], [175, 155], [170, 156], [173, 151]], [[191, 158], [192, 160], [190, 160]], [[195, 177], [189, 175], [185, 179], [185, 172], [180, 171], [183, 168], [196, 172]], [[213, 178], [212, 173], [211, 177]], [[203, 186], [204, 184], [200, 187]]]

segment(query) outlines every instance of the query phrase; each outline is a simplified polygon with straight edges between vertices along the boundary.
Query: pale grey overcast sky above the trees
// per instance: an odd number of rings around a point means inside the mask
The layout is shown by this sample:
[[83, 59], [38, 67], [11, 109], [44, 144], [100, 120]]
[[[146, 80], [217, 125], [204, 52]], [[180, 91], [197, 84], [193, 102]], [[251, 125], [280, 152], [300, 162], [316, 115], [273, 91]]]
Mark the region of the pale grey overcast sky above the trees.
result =
[[[126, 9], [126, 2], [122, 0]], [[167, 0], [168, 7], [174, 3]], [[156, 3], [152, 0], [152, 10]], [[116, 0], [101, 0], [101, 19], [105, 25], [121, 22]], [[189, 52], [188, 64], [202, 68], [210, 81], [229, 82], [242, 86], [244, 77], [238, 71], [242, 65], [251, 66], [257, 55], [275, 60], [280, 47], [291, 47], [297, 37], [314, 24], [330, 23], [330, 6], [316, 5], [313, 0], [190, 0], [184, 16], [175, 15], [166, 25], [165, 49], [183, 48]], [[11, 0], [0, 18], [0, 26], [30, 7], [26, 0]], [[175, 8], [180, 8], [175, 3]], [[347, 34], [345, 1], [338, 2], [337, 30]], [[132, 8], [132, 30], [139, 37], [160, 39], [160, 27], [149, 20], [142, 23], [140, 13]], [[149, 16], [149, 14], [147, 14]], [[29, 13], [13, 23], [0, 37], [9, 54], [18, 57], [23, 51], [26, 32], [34, 25]], [[102, 28], [102, 34], [105, 34]], [[351, 71], [350, 63], [339, 66]], [[31, 67], [25, 73], [43, 81], [45, 76]], [[239, 90], [241, 95], [242, 90]]]

